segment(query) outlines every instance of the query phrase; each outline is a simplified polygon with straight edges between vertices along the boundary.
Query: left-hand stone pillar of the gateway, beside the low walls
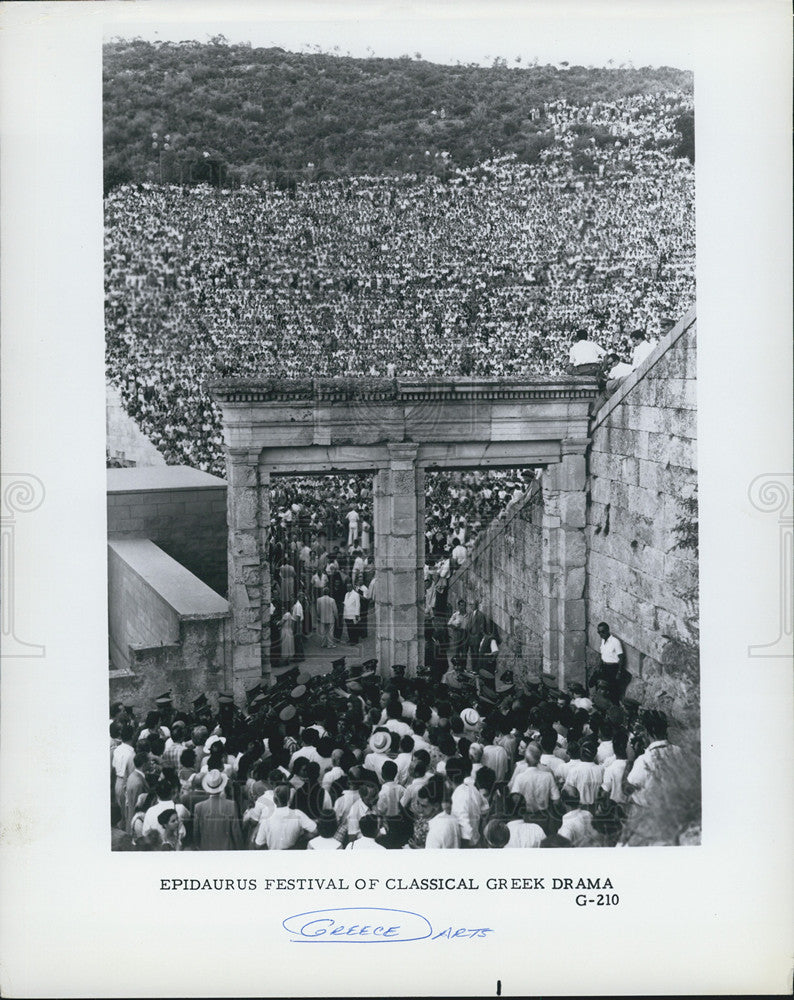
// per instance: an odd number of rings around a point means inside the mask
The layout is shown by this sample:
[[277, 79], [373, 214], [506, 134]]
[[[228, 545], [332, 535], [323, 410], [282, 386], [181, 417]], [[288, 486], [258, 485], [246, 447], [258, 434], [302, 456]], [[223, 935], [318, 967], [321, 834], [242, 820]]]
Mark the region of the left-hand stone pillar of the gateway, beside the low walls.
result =
[[232, 677], [235, 695], [270, 676], [270, 476], [259, 457], [230, 449], [226, 457], [229, 527], [229, 605], [232, 613]]

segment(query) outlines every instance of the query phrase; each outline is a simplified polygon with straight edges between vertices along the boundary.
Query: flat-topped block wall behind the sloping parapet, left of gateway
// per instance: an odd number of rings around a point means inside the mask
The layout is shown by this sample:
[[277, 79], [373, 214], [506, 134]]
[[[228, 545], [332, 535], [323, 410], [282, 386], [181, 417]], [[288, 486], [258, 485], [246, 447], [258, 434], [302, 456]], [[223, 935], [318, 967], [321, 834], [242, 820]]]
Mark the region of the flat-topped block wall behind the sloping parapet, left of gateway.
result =
[[227, 593], [226, 483], [186, 466], [108, 469], [108, 536], [150, 538]]

